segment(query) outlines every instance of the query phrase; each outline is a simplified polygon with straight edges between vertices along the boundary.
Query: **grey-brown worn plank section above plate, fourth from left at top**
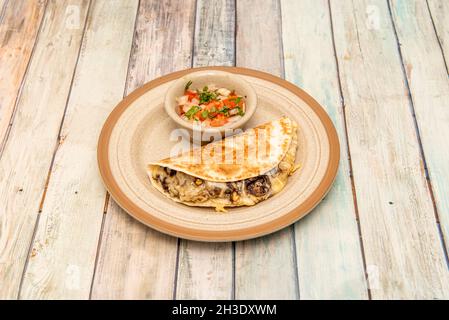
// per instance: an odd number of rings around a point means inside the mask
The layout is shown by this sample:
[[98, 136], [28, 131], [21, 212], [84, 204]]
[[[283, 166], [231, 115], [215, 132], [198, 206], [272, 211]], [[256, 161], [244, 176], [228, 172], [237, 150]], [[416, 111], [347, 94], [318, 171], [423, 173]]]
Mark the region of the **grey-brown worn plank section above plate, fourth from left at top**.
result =
[[127, 93], [156, 77], [191, 66], [194, 19], [194, 0], [141, 0]]

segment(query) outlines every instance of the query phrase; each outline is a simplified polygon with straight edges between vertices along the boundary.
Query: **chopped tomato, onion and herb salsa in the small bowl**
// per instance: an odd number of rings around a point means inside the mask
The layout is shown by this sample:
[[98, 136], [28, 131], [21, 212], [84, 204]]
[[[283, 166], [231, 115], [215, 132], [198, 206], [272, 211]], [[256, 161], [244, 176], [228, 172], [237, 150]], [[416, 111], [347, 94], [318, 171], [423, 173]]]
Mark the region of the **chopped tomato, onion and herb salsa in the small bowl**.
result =
[[184, 95], [176, 98], [182, 119], [203, 127], [221, 127], [245, 115], [245, 97], [235, 90], [213, 84], [193, 90], [191, 85], [192, 81], [187, 82]]

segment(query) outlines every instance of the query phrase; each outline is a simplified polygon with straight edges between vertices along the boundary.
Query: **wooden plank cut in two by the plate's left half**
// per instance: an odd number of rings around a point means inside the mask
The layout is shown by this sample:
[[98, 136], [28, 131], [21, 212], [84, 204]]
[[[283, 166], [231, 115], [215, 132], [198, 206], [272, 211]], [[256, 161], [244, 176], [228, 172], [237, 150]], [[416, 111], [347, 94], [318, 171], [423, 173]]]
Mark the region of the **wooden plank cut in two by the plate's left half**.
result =
[[[141, 1], [126, 94], [190, 67], [194, 17], [194, 0]], [[171, 299], [178, 240], [132, 219], [112, 200], [105, 219], [92, 298]]]

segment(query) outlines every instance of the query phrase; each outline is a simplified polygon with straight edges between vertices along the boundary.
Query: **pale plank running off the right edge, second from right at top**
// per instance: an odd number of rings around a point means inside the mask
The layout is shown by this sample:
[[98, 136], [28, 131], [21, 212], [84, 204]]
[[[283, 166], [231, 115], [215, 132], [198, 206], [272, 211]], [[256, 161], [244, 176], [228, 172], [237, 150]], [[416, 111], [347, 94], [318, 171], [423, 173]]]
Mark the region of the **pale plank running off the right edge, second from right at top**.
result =
[[447, 245], [449, 78], [426, 3], [394, 1], [391, 2], [391, 9], [435, 204]]

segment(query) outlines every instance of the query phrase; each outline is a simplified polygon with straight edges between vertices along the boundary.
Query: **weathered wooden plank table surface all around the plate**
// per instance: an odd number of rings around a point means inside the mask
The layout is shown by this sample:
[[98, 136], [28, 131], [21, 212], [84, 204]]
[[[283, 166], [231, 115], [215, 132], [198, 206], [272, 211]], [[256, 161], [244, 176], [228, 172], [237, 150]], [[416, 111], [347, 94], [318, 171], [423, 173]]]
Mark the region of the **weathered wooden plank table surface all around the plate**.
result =
[[[0, 0], [0, 298], [449, 298], [449, 1]], [[199, 243], [106, 193], [114, 106], [192, 66], [302, 87], [337, 180], [275, 234]]]

